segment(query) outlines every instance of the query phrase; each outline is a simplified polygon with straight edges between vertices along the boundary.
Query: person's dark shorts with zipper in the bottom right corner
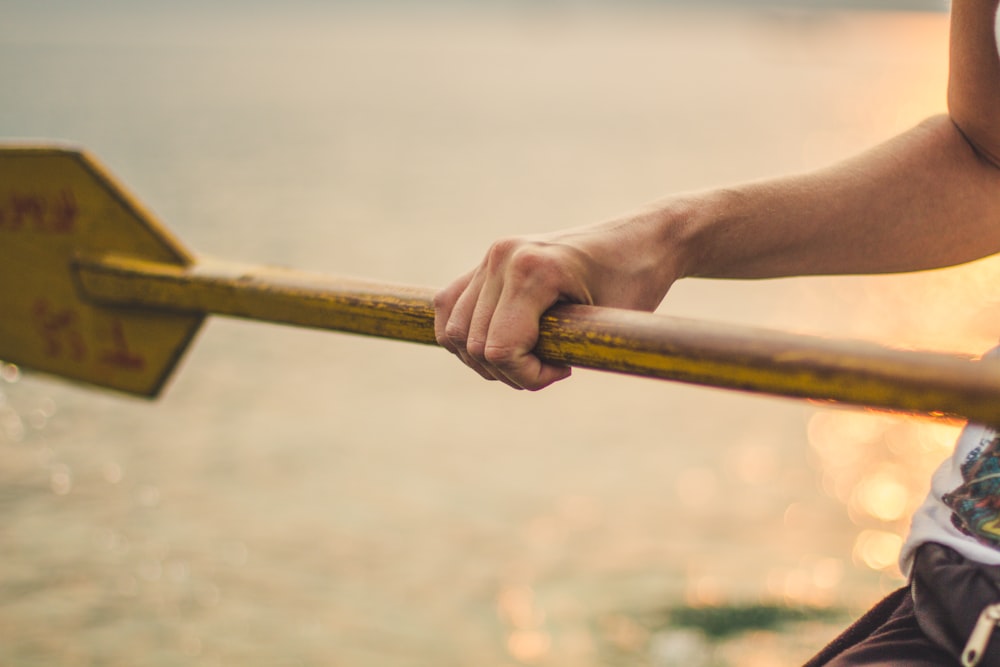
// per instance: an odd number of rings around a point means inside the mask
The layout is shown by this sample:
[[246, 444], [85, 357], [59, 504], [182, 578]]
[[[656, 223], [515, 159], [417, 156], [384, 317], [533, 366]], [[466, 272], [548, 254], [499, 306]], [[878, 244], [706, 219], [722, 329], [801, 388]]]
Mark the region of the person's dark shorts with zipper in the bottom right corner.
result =
[[[1000, 602], [1000, 567], [939, 544], [920, 547], [910, 585], [882, 600], [806, 667], [961, 665], [983, 608]], [[1000, 628], [981, 666], [1000, 665]]]

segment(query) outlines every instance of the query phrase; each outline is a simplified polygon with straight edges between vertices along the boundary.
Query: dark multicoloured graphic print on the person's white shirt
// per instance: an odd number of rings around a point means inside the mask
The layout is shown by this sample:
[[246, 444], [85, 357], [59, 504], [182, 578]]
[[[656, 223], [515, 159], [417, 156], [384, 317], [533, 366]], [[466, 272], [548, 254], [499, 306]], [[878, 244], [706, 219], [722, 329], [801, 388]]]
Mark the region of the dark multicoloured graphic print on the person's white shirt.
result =
[[960, 531], [990, 547], [1000, 547], [1000, 434], [987, 431], [962, 463], [964, 483], [941, 500]]

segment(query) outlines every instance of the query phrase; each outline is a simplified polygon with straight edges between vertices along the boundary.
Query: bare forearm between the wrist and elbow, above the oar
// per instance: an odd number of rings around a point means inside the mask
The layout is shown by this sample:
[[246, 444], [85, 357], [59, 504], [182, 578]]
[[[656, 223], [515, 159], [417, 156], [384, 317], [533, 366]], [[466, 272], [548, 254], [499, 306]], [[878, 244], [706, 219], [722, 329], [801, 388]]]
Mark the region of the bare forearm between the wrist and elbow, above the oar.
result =
[[677, 277], [936, 268], [1000, 251], [1000, 170], [942, 116], [822, 171], [673, 201], [661, 222]]

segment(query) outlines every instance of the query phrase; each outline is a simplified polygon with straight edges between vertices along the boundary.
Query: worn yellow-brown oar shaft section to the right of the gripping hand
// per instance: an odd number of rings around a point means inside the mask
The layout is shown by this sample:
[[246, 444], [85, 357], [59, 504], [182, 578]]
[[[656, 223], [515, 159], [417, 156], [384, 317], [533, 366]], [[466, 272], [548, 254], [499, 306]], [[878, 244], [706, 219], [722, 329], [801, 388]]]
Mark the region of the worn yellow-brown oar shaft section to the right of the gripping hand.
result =
[[1000, 362], [874, 343], [572, 306], [540, 356], [572, 366], [1000, 424]]

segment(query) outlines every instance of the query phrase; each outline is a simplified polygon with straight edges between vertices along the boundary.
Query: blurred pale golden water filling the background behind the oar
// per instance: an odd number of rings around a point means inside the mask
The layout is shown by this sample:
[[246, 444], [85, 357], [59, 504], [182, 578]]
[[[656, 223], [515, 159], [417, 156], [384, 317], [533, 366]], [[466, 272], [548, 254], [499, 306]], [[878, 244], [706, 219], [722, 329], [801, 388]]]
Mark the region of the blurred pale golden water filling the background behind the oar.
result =
[[[905, 129], [943, 109], [946, 33], [905, 13], [23, 9], [0, 23], [0, 135], [88, 147], [198, 252], [440, 285], [497, 236]], [[664, 310], [975, 352], [996, 271], [691, 282]], [[517, 394], [439, 350], [221, 320], [156, 403], [2, 377], [15, 665], [668, 664], [681, 644], [634, 618], [857, 609], [896, 585], [892, 540], [954, 430], [586, 372]], [[834, 631], [712, 659], [790, 664]]]

